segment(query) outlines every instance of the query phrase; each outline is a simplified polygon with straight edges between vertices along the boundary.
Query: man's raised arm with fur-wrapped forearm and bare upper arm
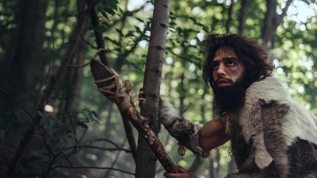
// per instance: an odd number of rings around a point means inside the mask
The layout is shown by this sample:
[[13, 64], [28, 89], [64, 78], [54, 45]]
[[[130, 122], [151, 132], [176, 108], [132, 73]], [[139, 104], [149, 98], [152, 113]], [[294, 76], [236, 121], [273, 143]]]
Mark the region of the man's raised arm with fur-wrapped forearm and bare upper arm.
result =
[[[212, 119], [200, 124], [179, 118], [176, 110], [166, 100], [160, 101], [160, 121], [169, 131], [170, 135], [179, 141], [180, 147], [184, 146], [195, 154], [203, 157], [209, 156], [209, 151], [226, 143], [229, 136], [225, 133], [228, 118], [225, 116]], [[183, 155], [183, 149], [179, 149]]]

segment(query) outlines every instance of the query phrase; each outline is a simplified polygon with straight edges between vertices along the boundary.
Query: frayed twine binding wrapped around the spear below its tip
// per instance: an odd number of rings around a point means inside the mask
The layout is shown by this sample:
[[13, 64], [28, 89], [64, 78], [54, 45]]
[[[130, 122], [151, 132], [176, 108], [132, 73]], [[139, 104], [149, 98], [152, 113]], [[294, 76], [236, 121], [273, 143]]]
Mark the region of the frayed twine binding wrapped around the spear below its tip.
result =
[[95, 83], [98, 84], [113, 80], [110, 85], [98, 87], [98, 90], [110, 101], [115, 103], [120, 111], [124, 111], [130, 107], [130, 104], [133, 105], [135, 102], [134, 97], [130, 95], [133, 82], [130, 80], [125, 80], [120, 83], [119, 75], [113, 69], [110, 70], [113, 72], [112, 76], [101, 80], [95, 80]]

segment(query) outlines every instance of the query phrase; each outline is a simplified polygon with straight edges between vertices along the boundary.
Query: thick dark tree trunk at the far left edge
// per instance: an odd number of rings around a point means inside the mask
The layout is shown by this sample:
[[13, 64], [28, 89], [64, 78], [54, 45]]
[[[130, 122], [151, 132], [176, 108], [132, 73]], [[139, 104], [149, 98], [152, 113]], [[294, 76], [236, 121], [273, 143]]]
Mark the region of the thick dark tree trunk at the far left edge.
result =
[[[12, 35], [10, 46], [12, 50], [7, 50], [5, 66], [1, 66], [3, 77], [2, 86], [14, 99], [24, 107], [29, 113], [34, 113], [35, 95], [34, 84], [39, 65], [42, 61], [42, 47], [44, 41], [44, 23], [46, 20], [46, 9], [48, 2], [43, 0], [31, 0], [21, 2], [21, 12], [17, 12], [16, 33]], [[19, 16], [20, 15], [20, 16]], [[17, 42], [15, 42], [17, 41]], [[0, 92], [0, 110], [7, 112], [18, 111], [23, 118], [29, 118], [22, 108], [10, 97]], [[0, 118], [0, 122], [19, 122], [17, 118]], [[26, 124], [11, 126], [2, 134], [0, 152], [0, 162], [8, 166], [14, 155], [14, 151], [20, 144], [23, 132], [27, 128]], [[3, 130], [2, 130], [3, 131]], [[3, 169], [1, 170], [3, 171]]]

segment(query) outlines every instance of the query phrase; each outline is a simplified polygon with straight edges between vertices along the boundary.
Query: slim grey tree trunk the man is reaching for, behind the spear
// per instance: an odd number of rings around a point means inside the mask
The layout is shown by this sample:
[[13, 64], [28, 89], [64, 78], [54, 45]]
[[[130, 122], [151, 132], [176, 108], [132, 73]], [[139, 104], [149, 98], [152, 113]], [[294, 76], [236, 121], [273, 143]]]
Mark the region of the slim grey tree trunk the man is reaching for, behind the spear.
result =
[[[144, 84], [145, 100], [141, 106], [141, 115], [148, 119], [148, 124], [156, 133], [160, 84], [165, 55], [165, 42], [170, 14], [170, 0], [154, 1], [154, 12], [151, 24], [151, 36], [146, 58]], [[136, 178], [155, 176], [156, 158], [148, 144], [138, 137], [138, 158], [136, 164]]]

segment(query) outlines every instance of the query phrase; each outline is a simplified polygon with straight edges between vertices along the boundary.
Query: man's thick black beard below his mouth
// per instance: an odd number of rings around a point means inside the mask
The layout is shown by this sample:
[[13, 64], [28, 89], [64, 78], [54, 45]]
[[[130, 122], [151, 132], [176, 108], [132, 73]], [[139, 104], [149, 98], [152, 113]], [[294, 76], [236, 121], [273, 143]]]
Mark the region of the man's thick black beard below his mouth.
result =
[[[226, 80], [231, 85], [218, 87], [219, 79]], [[245, 75], [238, 78], [235, 82], [225, 77], [220, 77], [218, 80], [215, 81], [216, 84], [213, 86], [214, 113], [221, 115], [224, 112], [235, 112], [242, 108], [245, 103], [246, 90], [250, 86], [250, 82], [248, 82]]]

